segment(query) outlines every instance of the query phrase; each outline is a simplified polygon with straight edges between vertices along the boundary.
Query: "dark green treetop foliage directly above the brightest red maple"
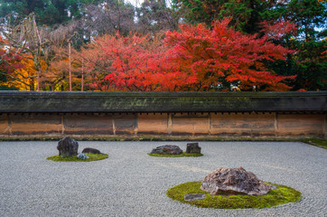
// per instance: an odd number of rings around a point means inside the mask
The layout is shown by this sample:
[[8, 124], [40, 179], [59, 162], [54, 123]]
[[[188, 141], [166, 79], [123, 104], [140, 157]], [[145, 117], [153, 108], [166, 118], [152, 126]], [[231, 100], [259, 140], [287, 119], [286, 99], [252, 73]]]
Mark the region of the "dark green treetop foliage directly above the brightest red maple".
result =
[[[276, 19], [283, 2], [276, 0], [175, 0], [190, 24], [210, 25], [215, 20], [231, 17], [230, 25], [238, 31], [257, 33], [264, 20]], [[283, 8], [282, 8], [283, 9]]]

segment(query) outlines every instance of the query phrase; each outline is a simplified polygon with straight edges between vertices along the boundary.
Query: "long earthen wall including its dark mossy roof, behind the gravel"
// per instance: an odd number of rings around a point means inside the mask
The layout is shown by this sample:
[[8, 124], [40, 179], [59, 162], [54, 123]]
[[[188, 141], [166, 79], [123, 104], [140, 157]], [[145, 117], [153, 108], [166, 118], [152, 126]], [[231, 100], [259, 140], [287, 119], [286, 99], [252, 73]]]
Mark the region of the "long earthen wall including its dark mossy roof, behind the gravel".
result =
[[327, 91], [0, 91], [0, 137], [327, 137]]

